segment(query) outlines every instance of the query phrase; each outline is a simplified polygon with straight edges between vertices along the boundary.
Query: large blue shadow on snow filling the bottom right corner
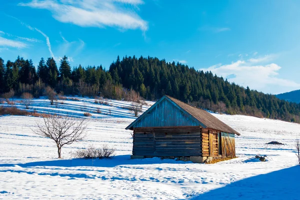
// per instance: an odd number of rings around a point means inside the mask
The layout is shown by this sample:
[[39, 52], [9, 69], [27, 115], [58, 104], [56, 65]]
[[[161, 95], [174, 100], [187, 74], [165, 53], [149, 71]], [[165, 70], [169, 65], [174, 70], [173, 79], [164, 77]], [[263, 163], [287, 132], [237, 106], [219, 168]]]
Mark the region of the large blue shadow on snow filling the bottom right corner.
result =
[[299, 179], [300, 166], [296, 165], [241, 179], [191, 199], [300, 199]]

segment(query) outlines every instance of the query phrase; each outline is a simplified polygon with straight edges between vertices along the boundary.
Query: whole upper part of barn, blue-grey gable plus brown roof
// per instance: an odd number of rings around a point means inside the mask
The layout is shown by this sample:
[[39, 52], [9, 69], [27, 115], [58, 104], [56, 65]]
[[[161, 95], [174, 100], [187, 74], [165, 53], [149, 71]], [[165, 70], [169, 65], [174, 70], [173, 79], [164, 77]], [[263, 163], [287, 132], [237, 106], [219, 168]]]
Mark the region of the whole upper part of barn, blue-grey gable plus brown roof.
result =
[[135, 127], [201, 126], [239, 135], [233, 128], [208, 113], [168, 95], [162, 96], [125, 129]]

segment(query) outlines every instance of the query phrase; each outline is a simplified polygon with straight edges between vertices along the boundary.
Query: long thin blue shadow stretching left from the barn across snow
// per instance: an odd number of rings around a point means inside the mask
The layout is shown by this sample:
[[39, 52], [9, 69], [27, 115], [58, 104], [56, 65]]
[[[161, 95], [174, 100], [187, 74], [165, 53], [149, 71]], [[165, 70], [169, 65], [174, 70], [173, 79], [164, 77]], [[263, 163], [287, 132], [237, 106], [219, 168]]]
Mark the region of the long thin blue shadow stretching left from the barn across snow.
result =
[[116, 155], [111, 158], [103, 159], [55, 159], [46, 161], [36, 161], [27, 163], [12, 163], [12, 164], [0, 164], [1, 166], [14, 166], [21, 167], [36, 167], [36, 166], [57, 166], [57, 167], [76, 167], [76, 166], [95, 166], [95, 167], [115, 167], [117, 165], [124, 164], [161, 164], [161, 163], [175, 163], [186, 164], [191, 162], [174, 160], [174, 159], [160, 159], [158, 157], [144, 158], [144, 159], [130, 159], [130, 155]]

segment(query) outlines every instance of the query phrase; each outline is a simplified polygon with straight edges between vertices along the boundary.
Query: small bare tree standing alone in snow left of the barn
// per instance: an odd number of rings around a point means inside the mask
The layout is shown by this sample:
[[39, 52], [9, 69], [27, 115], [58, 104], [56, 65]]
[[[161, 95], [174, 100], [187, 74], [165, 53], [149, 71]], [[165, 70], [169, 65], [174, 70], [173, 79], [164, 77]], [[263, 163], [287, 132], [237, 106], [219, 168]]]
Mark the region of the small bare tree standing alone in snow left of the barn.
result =
[[85, 118], [70, 116], [43, 116], [43, 123], [32, 129], [35, 134], [53, 139], [57, 146], [58, 158], [61, 158], [61, 147], [82, 140], [86, 136], [87, 121]]

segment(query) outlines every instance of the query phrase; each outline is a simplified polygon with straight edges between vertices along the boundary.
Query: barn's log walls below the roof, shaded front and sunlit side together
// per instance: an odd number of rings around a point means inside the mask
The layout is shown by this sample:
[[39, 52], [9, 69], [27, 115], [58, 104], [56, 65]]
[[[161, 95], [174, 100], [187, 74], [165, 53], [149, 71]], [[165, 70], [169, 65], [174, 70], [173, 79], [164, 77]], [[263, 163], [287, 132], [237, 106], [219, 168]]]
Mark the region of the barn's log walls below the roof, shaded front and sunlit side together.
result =
[[[221, 138], [218, 138], [219, 135]], [[133, 131], [132, 154], [235, 157], [235, 138], [233, 133], [196, 126], [137, 127]]]

